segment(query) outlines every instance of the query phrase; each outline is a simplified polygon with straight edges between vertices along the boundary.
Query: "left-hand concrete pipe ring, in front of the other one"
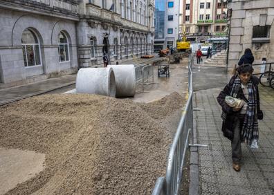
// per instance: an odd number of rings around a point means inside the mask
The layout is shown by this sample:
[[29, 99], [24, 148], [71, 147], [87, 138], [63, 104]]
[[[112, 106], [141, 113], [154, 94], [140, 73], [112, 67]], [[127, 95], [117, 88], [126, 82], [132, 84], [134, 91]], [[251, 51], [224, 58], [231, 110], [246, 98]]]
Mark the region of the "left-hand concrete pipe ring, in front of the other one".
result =
[[76, 92], [115, 97], [116, 82], [112, 68], [81, 68], [76, 77]]

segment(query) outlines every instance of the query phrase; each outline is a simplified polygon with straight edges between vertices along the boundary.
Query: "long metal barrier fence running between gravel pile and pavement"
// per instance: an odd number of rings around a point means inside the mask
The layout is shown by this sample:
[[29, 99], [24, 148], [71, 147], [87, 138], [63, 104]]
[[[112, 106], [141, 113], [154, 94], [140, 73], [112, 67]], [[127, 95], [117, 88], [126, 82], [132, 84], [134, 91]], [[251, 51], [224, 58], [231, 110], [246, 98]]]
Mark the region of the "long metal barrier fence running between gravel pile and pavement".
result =
[[[158, 178], [152, 192], [159, 194], [179, 194], [183, 167], [185, 165], [185, 154], [188, 149], [190, 132], [193, 131], [193, 105], [192, 105], [192, 64], [193, 57], [190, 55], [188, 63], [188, 102], [185, 104], [179, 126], [176, 130], [170, 154], [167, 159], [166, 176]], [[192, 136], [193, 137], [193, 136]]]

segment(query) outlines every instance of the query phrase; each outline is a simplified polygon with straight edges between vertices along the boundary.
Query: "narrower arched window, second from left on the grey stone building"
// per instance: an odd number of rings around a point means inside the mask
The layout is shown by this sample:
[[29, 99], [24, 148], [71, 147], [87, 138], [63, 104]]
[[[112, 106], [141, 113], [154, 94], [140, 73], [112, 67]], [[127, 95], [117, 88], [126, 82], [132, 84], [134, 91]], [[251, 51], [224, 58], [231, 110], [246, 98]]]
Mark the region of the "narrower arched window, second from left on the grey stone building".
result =
[[69, 43], [64, 32], [59, 32], [58, 35], [58, 52], [59, 62], [69, 61]]

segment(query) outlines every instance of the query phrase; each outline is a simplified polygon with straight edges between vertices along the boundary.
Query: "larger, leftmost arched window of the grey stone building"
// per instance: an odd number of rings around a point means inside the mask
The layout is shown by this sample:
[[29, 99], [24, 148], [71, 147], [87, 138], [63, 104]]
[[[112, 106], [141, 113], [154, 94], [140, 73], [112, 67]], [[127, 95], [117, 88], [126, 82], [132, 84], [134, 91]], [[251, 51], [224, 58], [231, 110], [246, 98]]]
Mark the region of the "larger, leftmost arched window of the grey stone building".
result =
[[39, 39], [37, 39], [35, 33], [32, 30], [26, 28], [22, 34], [21, 42], [23, 46], [25, 66], [28, 67], [42, 65]]

